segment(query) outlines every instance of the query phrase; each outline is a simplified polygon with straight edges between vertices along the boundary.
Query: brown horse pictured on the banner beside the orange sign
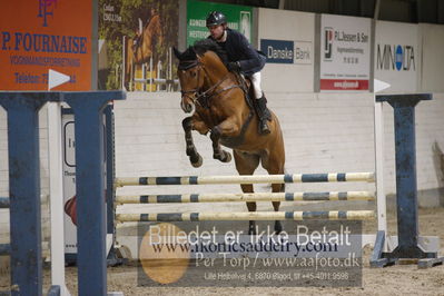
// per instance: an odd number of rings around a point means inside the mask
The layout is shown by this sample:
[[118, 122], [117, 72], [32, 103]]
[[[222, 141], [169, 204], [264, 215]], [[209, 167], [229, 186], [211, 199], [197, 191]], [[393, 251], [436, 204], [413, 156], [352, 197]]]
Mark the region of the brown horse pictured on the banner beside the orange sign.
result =
[[[129, 90], [130, 81], [135, 77], [136, 65], [149, 62], [155, 56], [156, 46], [164, 45], [164, 32], [160, 23], [159, 14], [154, 14], [149, 22], [145, 26], [142, 33], [138, 40], [138, 45], [134, 45], [134, 38], [128, 38], [126, 47], [125, 62], [125, 88]], [[157, 62], [152, 62], [152, 70], [156, 72]]]

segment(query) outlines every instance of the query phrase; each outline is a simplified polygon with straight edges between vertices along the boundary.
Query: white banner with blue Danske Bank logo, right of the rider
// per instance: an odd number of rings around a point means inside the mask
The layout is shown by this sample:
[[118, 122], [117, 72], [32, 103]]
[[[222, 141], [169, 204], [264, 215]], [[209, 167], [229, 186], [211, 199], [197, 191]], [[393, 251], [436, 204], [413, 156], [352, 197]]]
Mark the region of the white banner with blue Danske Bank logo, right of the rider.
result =
[[315, 13], [266, 8], [258, 10], [258, 47], [267, 57], [262, 71], [264, 90], [312, 92]]

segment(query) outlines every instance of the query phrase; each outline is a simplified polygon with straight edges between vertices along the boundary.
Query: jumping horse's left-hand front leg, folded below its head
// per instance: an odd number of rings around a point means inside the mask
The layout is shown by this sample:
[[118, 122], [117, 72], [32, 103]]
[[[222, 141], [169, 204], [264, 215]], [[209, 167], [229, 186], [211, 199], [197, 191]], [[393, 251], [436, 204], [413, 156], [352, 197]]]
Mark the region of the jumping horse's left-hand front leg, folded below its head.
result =
[[209, 129], [205, 125], [205, 122], [201, 121], [196, 116], [186, 117], [181, 121], [181, 125], [182, 125], [182, 128], [185, 131], [185, 141], [187, 144], [187, 149], [186, 149], [187, 156], [189, 157], [189, 161], [191, 162], [191, 166], [194, 166], [195, 168], [198, 168], [203, 164], [203, 158], [199, 155], [199, 152], [197, 152], [195, 142], [193, 140], [191, 130], [195, 129], [195, 130], [199, 131], [200, 134], [206, 135], [209, 131]]

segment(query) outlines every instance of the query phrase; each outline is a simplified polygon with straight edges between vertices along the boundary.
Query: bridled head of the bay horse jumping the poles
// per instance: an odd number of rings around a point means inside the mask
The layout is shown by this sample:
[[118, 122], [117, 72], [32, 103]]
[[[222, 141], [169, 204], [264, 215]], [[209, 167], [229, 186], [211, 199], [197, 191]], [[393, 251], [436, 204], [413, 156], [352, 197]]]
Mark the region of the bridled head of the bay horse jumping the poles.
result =
[[177, 76], [179, 77], [181, 89], [180, 107], [185, 112], [189, 114], [195, 108], [198, 93], [203, 90], [205, 72], [200, 58], [191, 47], [184, 52], [178, 51], [176, 48], [174, 51], [179, 59]]

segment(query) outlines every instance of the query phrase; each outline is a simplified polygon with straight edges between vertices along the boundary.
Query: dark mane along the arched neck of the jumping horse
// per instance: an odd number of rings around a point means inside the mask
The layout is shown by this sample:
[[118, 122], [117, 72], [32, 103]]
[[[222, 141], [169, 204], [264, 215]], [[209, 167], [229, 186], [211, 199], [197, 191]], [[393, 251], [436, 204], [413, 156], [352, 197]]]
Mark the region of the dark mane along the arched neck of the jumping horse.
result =
[[225, 66], [227, 66], [228, 63], [227, 52], [225, 52], [225, 50], [219, 45], [217, 45], [216, 41], [211, 39], [203, 39], [196, 41], [193, 47], [188, 47], [187, 50], [185, 50], [180, 55], [179, 69], [186, 70], [190, 67], [194, 67], [196, 65], [195, 61], [197, 61], [197, 55], [201, 56], [207, 51], [215, 52], [219, 57], [221, 62]]

